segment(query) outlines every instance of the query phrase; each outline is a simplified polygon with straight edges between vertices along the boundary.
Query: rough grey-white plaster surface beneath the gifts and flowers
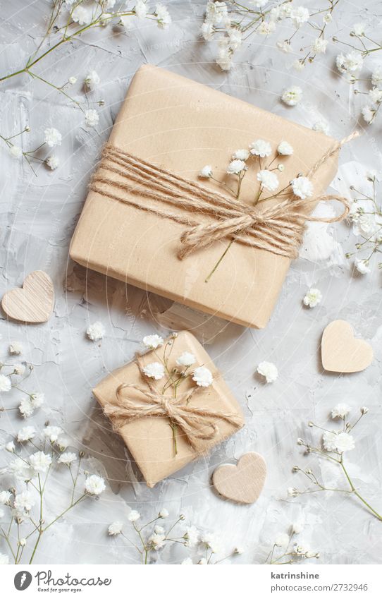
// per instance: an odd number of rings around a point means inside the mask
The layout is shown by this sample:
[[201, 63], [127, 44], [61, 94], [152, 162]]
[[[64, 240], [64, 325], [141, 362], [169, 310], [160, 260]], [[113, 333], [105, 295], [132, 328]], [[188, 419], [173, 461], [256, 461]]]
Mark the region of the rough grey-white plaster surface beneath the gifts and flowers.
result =
[[[49, 2], [1, 4], [1, 72], [7, 72], [23, 65], [35, 48]], [[321, 8], [325, 3], [305, 4]], [[375, 15], [381, 13], [374, 0], [362, 3], [363, 8], [345, 0], [341, 4], [338, 25], [333, 25], [338, 37], [347, 36], [350, 26], [361, 19], [375, 25]], [[169, 7], [174, 23], [167, 32], [151, 25], [128, 34], [96, 30], [41, 63], [39, 73], [56, 85], [70, 75], [82, 80], [87, 71], [97, 70], [101, 84], [90, 101], [104, 98], [105, 105], [99, 109], [100, 122], [94, 130], [85, 130], [80, 111], [38, 81], [31, 82], [23, 75], [1, 85], [0, 133], [11, 135], [29, 123], [28, 147], [38, 145], [46, 126], [63, 133], [61, 166], [51, 172], [37, 165], [37, 177], [25, 162], [11, 159], [1, 147], [0, 294], [22, 284], [25, 275], [37, 269], [51, 275], [56, 289], [54, 314], [45, 325], [19, 325], [8, 322], [4, 314], [0, 316], [1, 356], [6, 356], [10, 341], [23, 342], [23, 358], [35, 364], [28, 385], [47, 398], [33, 423], [43, 425], [49, 420], [60, 425], [73, 446], [90, 456], [88, 468], [109, 480], [101, 500], [86, 502], [51, 528], [36, 561], [135, 563], [135, 551], [121, 540], [107, 538], [106, 527], [124, 519], [130, 508], [150, 519], [165, 506], [171, 516], [183, 512], [195, 526], [216, 531], [225, 547], [223, 555], [235, 545], [246, 545], [247, 551], [234, 563], [264, 562], [275, 536], [287, 531], [295, 519], [304, 521], [304, 541], [321, 552], [322, 563], [380, 563], [381, 523], [352, 498], [319, 493], [293, 499], [286, 493], [290, 486], [304, 488], [302, 478], [292, 474], [294, 464], [314, 466], [326, 483], [343, 485], [335, 469], [312, 456], [302, 456], [296, 440], [311, 438], [308, 420], [325, 424], [333, 406], [345, 401], [355, 411], [360, 405], [369, 406], [370, 414], [357, 432], [357, 449], [350, 452], [348, 461], [357, 487], [382, 509], [381, 274], [374, 269], [365, 278], [352, 272], [345, 251], [354, 246], [355, 238], [347, 224], [309, 226], [271, 322], [261, 331], [171, 306], [144, 291], [86, 272], [68, 258], [70, 237], [99, 150], [109, 137], [130, 79], [142, 63], [164, 66], [305, 126], [325, 119], [336, 138], [355, 127], [359, 104], [345, 80], [329, 68], [336, 49], [328, 49], [324, 59], [296, 73], [290, 69], [290, 56], [278, 52], [273, 41], [252, 37], [233, 71], [222, 73], [214, 66], [211, 48], [197, 39], [203, 5], [200, 1], [173, 1]], [[283, 87], [291, 81], [304, 88], [304, 99], [294, 109], [279, 101]], [[83, 100], [80, 86], [75, 90]], [[345, 147], [332, 190], [347, 193], [351, 183], [359, 180], [359, 185], [365, 184], [361, 181], [367, 168], [382, 169], [380, 135], [381, 121], [377, 121], [362, 138]], [[319, 210], [327, 214], [331, 209]], [[319, 287], [324, 295], [314, 310], [302, 306], [309, 286]], [[351, 322], [357, 334], [374, 347], [374, 362], [363, 373], [337, 376], [322, 370], [321, 333], [336, 318]], [[85, 331], [96, 320], [104, 323], [106, 335], [94, 344]], [[133, 358], [144, 334], [166, 334], [182, 327], [194, 329], [206, 344], [240, 401], [246, 426], [210, 456], [148, 489], [97, 408], [91, 389], [106, 373]], [[272, 385], [264, 385], [254, 374], [263, 360], [278, 366], [280, 375]], [[18, 392], [13, 391], [4, 401], [17, 405], [17, 399]], [[0, 442], [10, 440], [22, 425], [16, 412], [4, 413]], [[211, 490], [210, 478], [216, 465], [238, 459], [247, 451], [264, 456], [268, 476], [257, 503], [238, 506], [218, 497]], [[64, 475], [54, 478], [47, 495], [51, 514], [56, 513], [57, 504], [65, 504], [67, 485]], [[183, 547], [175, 546], [156, 559], [179, 563], [186, 556]]]

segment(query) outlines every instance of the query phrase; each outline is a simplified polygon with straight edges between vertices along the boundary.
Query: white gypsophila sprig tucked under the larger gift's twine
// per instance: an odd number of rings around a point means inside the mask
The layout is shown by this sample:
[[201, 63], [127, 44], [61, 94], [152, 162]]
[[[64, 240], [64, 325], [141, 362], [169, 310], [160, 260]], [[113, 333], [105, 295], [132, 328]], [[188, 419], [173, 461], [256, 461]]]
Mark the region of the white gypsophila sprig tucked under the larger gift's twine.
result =
[[[249, 171], [254, 170], [257, 183], [253, 190], [252, 205], [276, 198], [285, 199], [288, 196], [291, 198], [295, 196], [295, 198], [299, 198], [300, 200], [312, 198], [314, 194], [312, 181], [301, 173], [291, 174], [288, 185], [281, 188], [278, 174], [285, 171], [285, 168], [288, 167], [288, 158], [292, 155], [293, 147], [288, 140], [280, 140], [276, 147], [272, 147], [269, 141], [257, 139], [250, 143], [247, 148], [241, 148], [233, 152], [226, 168], [229, 183], [226, 183], [225, 180], [217, 179], [210, 165], [202, 167], [199, 171], [199, 177], [215, 181], [226, 190], [226, 193], [233, 195], [236, 200], [240, 200], [242, 183], [245, 176]], [[231, 183], [231, 181], [233, 182]], [[205, 279], [206, 283], [209, 282], [218, 265], [220, 265], [228, 253], [233, 241], [234, 239], [232, 238], [214, 265], [214, 268]]]

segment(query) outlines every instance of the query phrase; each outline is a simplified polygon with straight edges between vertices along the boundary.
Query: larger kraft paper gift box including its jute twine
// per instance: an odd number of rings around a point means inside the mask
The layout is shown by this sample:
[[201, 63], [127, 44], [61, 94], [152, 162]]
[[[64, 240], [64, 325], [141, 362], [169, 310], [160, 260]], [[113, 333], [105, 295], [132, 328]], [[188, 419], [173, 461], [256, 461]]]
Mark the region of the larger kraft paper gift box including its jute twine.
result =
[[[262, 328], [314, 202], [331, 199], [322, 195], [340, 145], [142, 66], [94, 173], [70, 256], [141, 289]], [[307, 180], [292, 190], [290, 181], [301, 175]]]

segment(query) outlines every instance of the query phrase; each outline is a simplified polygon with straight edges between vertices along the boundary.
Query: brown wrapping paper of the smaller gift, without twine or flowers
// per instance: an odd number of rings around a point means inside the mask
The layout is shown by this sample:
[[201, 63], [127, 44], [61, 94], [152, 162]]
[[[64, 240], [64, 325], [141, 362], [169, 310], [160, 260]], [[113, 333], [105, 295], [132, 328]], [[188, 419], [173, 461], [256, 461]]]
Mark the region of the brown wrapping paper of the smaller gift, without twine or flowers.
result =
[[[230, 435], [233, 435], [234, 432], [244, 425], [242, 412], [235, 397], [233, 397], [221, 374], [214, 366], [211, 358], [209, 358], [208, 353], [199, 344], [199, 341], [191, 333], [183, 331], [178, 334], [173, 343], [171, 358], [168, 362], [168, 369], [170, 371], [175, 366], [175, 359], [180, 353], [190, 351], [196, 356], [197, 365], [207, 366], [214, 376], [212, 385], [198, 389], [192, 395], [190, 403], [192, 402], [192, 405], [197, 407], [208, 407], [209, 410], [216, 410], [225, 415], [235, 413], [240, 420], [239, 425], [233, 425], [223, 419], [216, 420], [218, 433], [212, 440], [205, 441], [202, 447], [203, 453], [208, 453], [217, 443], [230, 437]], [[145, 353], [142, 356], [142, 363], [156, 362], [158, 361], [158, 356], [163, 358], [163, 355], [164, 346], [155, 351]], [[118, 405], [116, 389], [119, 385], [128, 382], [144, 387], [147, 386], [146, 381], [145, 377], [142, 377], [137, 363], [130, 362], [123, 366], [123, 368], [115, 370], [104, 378], [104, 380], [101, 380], [97, 387], [93, 389], [93, 392], [102, 407], [109, 403]], [[161, 389], [163, 381], [157, 381], [155, 385], [157, 389]], [[195, 383], [192, 381], [189, 382], [186, 380], [182, 384], [183, 390], [191, 389], [192, 387], [195, 387]], [[142, 397], [140, 392], [135, 389], [128, 389], [128, 394], [130, 398], [137, 399], [137, 402]], [[166, 391], [165, 394], [171, 397], [171, 390]], [[192, 449], [190, 443], [187, 441], [187, 437], [185, 437], [179, 427], [176, 433], [178, 453], [175, 455], [173, 431], [170, 426], [170, 420], [166, 417], [147, 416], [138, 418], [133, 422], [123, 425], [123, 428], [119, 432], [149, 487], [154, 487], [159, 480], [170, 476], [199, 456]]]

